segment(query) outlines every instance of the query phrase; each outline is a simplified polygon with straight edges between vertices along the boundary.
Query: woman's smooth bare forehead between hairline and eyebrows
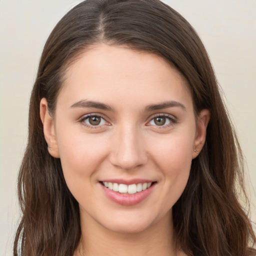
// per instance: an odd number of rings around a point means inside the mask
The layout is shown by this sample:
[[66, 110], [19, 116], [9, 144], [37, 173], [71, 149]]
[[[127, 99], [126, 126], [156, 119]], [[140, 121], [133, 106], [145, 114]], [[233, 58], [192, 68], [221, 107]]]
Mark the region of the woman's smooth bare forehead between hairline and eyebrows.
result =
[[192, 101], [186, 80], [166, 60], [156, 54], [107, 44], [92, 45], [69, 65], [58, 98], [61, 97], [69, 102], [82, 98], [122, 103], [128, 99], [144, 103]]

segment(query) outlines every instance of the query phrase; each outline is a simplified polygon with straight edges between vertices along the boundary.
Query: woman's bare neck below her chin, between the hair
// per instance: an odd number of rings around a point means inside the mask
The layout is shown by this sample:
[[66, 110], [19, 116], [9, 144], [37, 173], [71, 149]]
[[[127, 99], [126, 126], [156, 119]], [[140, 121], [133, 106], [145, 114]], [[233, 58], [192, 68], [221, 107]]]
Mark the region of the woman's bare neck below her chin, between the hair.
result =
[[102, 227], [94, 219], [81, 215], [81, 240], [75, 256], [176, 256], [172, 216], [169, 212], [146, 230], [120, 233]]

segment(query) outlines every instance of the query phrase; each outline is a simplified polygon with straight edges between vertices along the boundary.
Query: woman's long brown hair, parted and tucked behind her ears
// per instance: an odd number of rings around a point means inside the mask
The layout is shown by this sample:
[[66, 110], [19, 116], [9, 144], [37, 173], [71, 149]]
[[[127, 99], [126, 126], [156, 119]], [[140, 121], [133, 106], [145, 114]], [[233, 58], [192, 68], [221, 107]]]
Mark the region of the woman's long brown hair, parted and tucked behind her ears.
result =
[[237, 198], [237, 185], [244, 192], [242, 153], [194, 29], [158, 0], [86, 0], [57, 23], [40, 58], [29, 105], [28, 144], [18, 176], [22, 218], [14, 255], [71, 256], [79, 242], [79, 206], [66, 186], [60, 159], [47, 151], [39, 102], [45, 97], [54, 114], [65, 68], [98, 42], [158, 54], [188, 81], [195, 113], [210, 111], [205, 145], [192, 160], [185, 190], [172, 208], [183, 251], [196, 256], [255, 253], [249, 247], [255, 234]]

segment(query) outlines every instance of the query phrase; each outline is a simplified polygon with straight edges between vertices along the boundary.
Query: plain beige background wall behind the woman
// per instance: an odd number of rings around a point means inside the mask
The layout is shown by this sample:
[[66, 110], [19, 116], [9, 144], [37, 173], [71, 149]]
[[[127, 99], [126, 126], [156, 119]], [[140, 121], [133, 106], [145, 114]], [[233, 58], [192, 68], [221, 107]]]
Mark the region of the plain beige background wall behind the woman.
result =
[[[26, 145], [30, 90], [43, 44], [79, 0], [0, 0], [0, 256], [11, 255], [16, 176]], [[247, 158], [256, 220], [256, 0], [165, 0], [196, 29], [226, 96]]]

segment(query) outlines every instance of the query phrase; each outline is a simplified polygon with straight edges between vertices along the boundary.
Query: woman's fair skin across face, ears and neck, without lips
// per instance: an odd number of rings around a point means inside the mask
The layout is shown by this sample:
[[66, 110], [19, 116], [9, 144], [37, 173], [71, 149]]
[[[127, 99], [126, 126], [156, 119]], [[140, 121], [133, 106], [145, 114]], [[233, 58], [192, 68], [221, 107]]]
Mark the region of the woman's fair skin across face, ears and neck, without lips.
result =
[[[145, 111], [167, 101], [183, 106]], [[40, 114], [49, 153], [60, 157], [80, 206], [82, 238], [75, 255], [183, 255], [175, 243], [171, 209], [198, 155], [194, 149], [203, 146], [209, 112], [194, 115], [188, 85], [176, 69], [154, 54], [93, 45], [66, 70], [54, 116], [45, 98]], [[91, 125], [87, 114], [104, 119]], [[156, 125], [156, 116], [163, 124]], [[126, 206], [103, 192], [99, 181], [113, 178], [156, 183], [144, 200]]]

